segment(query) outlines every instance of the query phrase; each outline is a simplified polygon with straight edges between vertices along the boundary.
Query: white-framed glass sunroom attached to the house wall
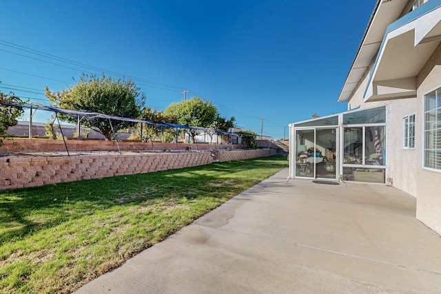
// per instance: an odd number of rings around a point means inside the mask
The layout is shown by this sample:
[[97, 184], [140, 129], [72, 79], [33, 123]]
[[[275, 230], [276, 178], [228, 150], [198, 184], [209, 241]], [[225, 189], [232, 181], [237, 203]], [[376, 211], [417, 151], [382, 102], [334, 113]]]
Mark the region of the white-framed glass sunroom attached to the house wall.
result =
[[289, 125], [289, 177], [382, 182], [386, 106]]

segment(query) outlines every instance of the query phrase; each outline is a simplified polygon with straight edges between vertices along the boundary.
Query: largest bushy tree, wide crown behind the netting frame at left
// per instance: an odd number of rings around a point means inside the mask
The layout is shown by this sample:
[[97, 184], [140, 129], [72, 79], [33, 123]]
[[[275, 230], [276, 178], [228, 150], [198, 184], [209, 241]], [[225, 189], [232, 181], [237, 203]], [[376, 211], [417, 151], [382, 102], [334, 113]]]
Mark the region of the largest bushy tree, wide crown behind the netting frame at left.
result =
[[[144, 94], [139, 90], [140, 88], [136, 87], [130, 78], [114, 80], [104, 74], [101, 78], [93, 74], [83, 74], [80, 81], [70, 86], [68, 90], [50, 92], [46, 86], [45, 95], [61, 108], [136, 118], [145, 101]], [[61, 119], [70, 123], [77, 122], [74, 116], [63, 115]], [[115, 132], [134, 126], [134, 123], [123, 120], [111, 120], [111, 122]], [[81, 123], [103, 134], [107, 140], [112, 140], [112, 126], [108, 120], [82, 120]]]

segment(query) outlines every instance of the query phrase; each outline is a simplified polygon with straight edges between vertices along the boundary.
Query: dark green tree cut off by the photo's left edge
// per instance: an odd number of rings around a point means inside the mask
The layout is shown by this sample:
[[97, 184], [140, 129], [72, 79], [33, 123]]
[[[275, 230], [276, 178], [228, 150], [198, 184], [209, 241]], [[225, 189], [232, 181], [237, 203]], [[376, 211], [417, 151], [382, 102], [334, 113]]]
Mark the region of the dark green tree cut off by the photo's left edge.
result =
[[[8, 95], [0, 92], [0, 102], [2, 103], [14, 103], [21, 104], [23, 101], [12, 92]], [[13, 125], [17, 125], [18, 118], [23, 114], [23, 108], [12, 107], [8, 105], [0, 104], [0, 137], [8, 136], [8, 128]], [[0, 138], [0, 147], [3, 146], [3, 140]]]

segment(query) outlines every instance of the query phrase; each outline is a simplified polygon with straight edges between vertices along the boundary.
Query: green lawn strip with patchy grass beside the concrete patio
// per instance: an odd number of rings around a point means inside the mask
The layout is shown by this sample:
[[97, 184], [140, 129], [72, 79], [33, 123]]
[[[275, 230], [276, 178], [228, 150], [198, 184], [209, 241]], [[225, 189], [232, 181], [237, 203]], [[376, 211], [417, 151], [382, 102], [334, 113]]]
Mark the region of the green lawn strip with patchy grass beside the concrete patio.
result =
[[0, 191], [0, 291], [70, 293], [286, 166], [270, 156]]

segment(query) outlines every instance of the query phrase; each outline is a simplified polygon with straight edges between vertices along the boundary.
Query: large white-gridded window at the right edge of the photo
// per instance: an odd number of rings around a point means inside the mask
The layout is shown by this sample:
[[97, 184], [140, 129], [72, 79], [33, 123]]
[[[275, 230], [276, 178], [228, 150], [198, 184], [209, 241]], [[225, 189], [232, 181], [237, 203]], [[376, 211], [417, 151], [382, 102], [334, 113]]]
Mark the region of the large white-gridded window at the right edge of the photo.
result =
[[441, 171], [441, 88], [424, 96], [424, 167]]

